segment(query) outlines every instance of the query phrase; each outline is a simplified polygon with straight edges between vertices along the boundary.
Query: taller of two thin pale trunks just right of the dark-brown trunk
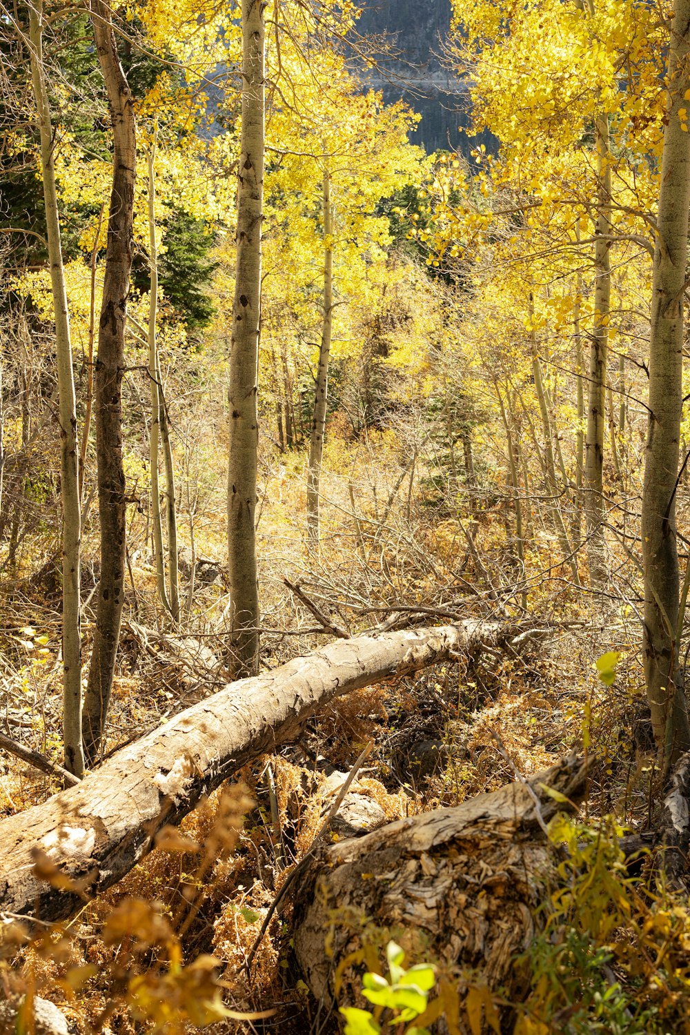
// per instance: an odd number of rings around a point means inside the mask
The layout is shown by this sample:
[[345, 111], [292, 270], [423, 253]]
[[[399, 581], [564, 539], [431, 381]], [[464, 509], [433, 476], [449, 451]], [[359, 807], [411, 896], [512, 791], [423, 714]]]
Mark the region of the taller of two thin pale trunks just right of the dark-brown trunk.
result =
[[153, 532], [153, 563], [156, 569], [156, 585], [160, 602], [169, 615], [173, 614], [166, 585], [166, 558], [162, 541], [162, 516], [160, 513], [160, 485], [158, 481], [158, 443], [160, 439], [160, 413], [162, 410], [160, 385], [158, 382], [158, 342], [156, 337], [156, 315], [158, 310], [158, 250], [156, 246], [156, 197], [155, 197], [155, 139], [148, 154], [149, 172], [149, 268], [151, 291], [149, 293], [149, 384], [151, 387], [151, 431], [149, 433], [149, 463], [151, 467], [151, 528]]

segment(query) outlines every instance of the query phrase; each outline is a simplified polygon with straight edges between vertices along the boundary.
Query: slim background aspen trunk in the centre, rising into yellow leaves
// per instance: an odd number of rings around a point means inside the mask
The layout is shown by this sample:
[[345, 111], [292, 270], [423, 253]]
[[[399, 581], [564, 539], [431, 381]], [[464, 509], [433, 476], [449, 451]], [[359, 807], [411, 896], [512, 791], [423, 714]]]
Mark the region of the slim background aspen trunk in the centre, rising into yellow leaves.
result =
[[319, 542], [319, 485], [321, 464], [324, 457], [326, 434], [326, 407], [328, 404], [328, 364], [331, 355], [333, 328], [333, 218], [331, 209], [331, 179], [324, 173], [324, 320], [319, 351], [319, 369], [311, 418], [309, 440], [309, 470], [306, 485], [306, 524], [309, 541]]

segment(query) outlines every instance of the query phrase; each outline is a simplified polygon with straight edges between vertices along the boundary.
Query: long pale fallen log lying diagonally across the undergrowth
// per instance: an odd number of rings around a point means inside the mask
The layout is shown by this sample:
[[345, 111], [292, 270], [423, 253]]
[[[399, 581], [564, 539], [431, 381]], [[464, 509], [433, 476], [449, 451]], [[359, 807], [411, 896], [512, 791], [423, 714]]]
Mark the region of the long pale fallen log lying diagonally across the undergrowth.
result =
[[[69, 917], [85, 897], [121, 880], [162, 826], [179, 823], [258, 756], [296, 739], [333, 698], [514, 634], [505, 623], [466, 621], [338, 640], [230, 683], [122, 748], [78, 787], [0, 822], [0, 914]], [[47, 883], [56, 866], [59, 879]]]

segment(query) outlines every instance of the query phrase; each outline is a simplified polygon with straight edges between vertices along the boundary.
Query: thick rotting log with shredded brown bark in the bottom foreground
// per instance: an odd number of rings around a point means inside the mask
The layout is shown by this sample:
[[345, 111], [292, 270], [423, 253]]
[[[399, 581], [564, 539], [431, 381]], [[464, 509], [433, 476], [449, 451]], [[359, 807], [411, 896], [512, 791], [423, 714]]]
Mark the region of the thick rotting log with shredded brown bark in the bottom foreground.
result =
[[563, 807], [541, 785], [572, 800], [584, 776], [573, 756], [532, 777], [539, 818], [524, 783], [511, 783], [329, 848], [305, 871], [295, 905], [295, 952], [314, 996], [366, 1006], [358, 968], [340, 973], [337, 995], [334, 981], [338, 964], [366, 942], [365, 918], [395, 927], [409, 957], [421, 944], [426, 960], [476, 969], [489, 987], [519, 997], [524, 974], [514, 956], [533, 938], [554, 874], [556, 850], [539, 820]]

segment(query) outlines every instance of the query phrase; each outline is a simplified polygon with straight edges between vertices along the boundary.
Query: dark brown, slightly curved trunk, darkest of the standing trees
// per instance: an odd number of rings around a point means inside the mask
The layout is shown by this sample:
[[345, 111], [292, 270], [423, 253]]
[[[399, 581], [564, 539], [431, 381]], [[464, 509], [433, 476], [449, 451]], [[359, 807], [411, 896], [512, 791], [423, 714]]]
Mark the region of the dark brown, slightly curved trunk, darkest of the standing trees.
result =
[[132, 98], [118, 59], [111, 11], [104, 0], [91, 0], [91, 21], [113, 123], [113, 189], [96, 358], [100, 582], [84, 702], [84, 751], [89, 764], [95, 761], [103, 735], [124, 598], [126, 503], [122, 466], [122, 375], [137, 168]]

